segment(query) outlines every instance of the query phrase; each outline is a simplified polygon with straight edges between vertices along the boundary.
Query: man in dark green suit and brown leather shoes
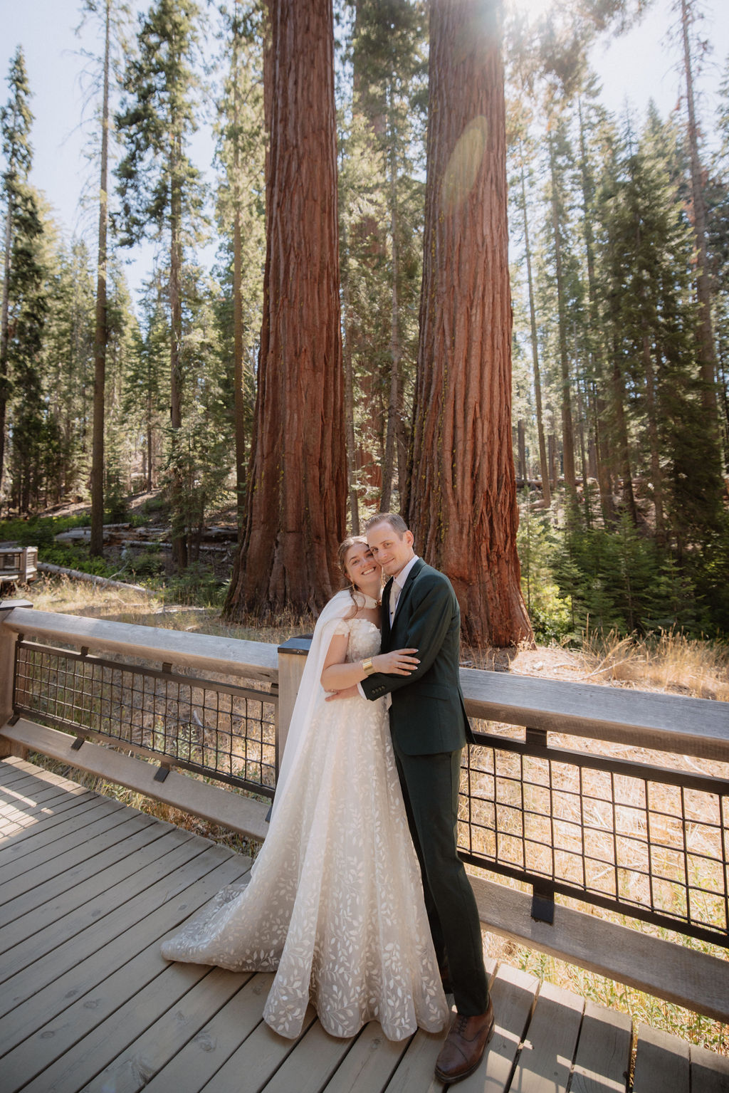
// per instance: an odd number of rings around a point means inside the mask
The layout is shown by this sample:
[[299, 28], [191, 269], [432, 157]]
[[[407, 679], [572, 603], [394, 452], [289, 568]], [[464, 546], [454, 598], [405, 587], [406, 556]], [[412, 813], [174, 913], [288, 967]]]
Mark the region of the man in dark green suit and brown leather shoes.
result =
[[460, 756], [472, 739], [458, 675], [460, 612], [448, 578], [413, 551], [395, 513], [365, 527], [375, 561], [391, 579], [383, 593], [383, 653], [418, 649], [407, 677], [373, 673], [367, 698], [390, 694], [390, 729], [405, 810], [423, 874], [425, 906], [444, 986], [457, 1014], [435, 1074], [457, 1082], [477, 1069], [494, 1029], [479, 913], [456, 850]]

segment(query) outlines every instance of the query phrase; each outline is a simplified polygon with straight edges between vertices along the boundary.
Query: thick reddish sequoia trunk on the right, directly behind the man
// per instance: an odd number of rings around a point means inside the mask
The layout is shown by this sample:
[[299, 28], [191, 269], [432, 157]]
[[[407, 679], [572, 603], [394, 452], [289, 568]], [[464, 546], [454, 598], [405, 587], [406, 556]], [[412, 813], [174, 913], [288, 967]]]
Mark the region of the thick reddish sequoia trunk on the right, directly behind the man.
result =
[[472, 645], [531, 637], [512, 454], [506, 136], [497, 0], [433, 0], [421, 330], [407, 506]]

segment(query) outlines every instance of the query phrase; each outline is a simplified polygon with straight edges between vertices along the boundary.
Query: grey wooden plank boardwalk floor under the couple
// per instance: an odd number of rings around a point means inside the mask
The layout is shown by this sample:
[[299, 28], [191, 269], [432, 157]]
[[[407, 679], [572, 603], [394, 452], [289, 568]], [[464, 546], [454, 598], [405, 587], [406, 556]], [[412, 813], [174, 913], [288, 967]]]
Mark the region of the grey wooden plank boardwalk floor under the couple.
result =
[[[420, 1093], [440, 1036], [261, 1020], [270, 974], [167, 964], [160, 940], [250, 862], [31, 763], [0, 762], [0, 1091]], [[729, 1093], [729, 1059], [504, 964], [462, 1093]], [[637, 1041], [637, 1048], [633, 1041]], [[633, 1059], [632, 1051], [635, 1050]]]

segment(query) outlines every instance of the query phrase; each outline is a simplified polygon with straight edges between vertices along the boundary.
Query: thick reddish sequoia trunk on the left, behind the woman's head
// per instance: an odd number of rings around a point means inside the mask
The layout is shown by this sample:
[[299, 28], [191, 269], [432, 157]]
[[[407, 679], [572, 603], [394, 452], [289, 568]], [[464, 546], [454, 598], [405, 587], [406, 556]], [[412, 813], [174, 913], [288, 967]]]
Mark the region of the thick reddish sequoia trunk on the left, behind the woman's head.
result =
[[331, 0], [269, 12], [263, 324], [230, 616], [318, 610], [339, 585], [346, 501]]

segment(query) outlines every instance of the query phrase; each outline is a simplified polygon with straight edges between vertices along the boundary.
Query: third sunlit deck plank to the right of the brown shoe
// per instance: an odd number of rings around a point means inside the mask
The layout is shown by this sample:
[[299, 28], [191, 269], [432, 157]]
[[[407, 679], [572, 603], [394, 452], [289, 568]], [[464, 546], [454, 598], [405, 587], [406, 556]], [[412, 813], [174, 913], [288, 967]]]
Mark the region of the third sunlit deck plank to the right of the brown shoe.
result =
[[627, 1013], [585, 1003], [571, 1093], [616, 1093], [627, 1089], [633, 1022]]

